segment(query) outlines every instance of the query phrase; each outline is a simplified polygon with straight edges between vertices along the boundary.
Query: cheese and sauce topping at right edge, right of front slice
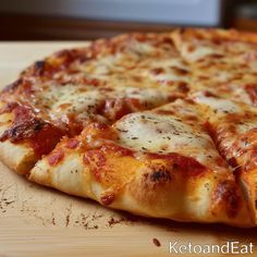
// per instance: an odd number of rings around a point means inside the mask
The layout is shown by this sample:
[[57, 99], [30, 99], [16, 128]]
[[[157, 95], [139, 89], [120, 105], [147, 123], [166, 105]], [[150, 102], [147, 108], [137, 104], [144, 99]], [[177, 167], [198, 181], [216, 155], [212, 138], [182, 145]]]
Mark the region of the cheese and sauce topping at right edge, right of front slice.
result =
[[[252, 158], [252, 151], [255, 151], [257, 146], [257, 114], [255, 109], [242, 102], [212, 96], [203, 100], [204, 97], [200, 96], [199, 103], [207, 106], [210, 111], [206, 112], [206, 118], [209, 120], [206, 123], [206, 130], [213, 138], [220, 155], [234, 171], [246, 169], [246, 166], [255, 169], [255, 158]], [[212, 100], [209, 101], [209, 98]], [[213, 105], [215, 99], [217, 102]], [[219, 111], [217, 111], [218, 105], [220, 105]]]

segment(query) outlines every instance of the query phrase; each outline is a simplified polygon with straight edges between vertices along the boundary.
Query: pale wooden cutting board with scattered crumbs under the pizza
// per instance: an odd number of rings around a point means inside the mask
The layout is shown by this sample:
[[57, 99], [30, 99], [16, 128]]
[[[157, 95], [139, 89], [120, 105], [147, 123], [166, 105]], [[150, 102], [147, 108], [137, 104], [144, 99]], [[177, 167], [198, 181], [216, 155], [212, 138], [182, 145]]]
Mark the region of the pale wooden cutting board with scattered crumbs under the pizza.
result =
[[[1, 42], [1, 87], [33, 61], [58, 49], [83, 45]], [[193, 245], [252, 242], [257, 254], [256, 229], [133, 217], [32, 184], [0, 163], [0, 256], [178, 256], [169, 253], [169, 243], [176, 241]]]

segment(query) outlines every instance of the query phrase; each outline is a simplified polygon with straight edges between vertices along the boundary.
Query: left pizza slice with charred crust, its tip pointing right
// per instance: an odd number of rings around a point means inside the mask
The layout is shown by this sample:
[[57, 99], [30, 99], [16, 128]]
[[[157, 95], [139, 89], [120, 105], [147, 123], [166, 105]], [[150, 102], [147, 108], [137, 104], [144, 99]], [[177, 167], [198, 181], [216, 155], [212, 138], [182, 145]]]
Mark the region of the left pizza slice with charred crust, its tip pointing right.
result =
[[122, 115], [145, 110], [169, 100], [155, 89], [119, 88], [105, 90], [86, 86], [49, 86], [16, 99], [7, 94], [0, 111], [0, 156], [17, 173], [26, 173], [66, 136], [81, 133], [94, 121], [112, 122]]

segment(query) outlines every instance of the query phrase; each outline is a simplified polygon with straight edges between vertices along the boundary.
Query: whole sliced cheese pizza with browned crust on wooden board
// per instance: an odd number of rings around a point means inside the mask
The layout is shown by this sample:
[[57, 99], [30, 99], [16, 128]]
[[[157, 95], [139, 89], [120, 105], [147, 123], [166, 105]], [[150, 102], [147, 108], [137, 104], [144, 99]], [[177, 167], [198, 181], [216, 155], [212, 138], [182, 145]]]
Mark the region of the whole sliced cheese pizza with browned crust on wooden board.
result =
[[257, 224], [257, 36], [184, 28], [99, 39], [0, 94], [0, 159], [135, 215]]

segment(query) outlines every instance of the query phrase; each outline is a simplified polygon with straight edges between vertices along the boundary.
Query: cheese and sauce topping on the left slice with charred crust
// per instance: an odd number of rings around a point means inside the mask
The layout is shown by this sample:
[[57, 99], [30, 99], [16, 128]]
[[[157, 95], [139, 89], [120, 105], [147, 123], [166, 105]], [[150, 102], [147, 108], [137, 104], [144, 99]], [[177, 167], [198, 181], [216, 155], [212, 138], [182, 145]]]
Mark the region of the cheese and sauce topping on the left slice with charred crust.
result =
[[[124, 114], [150, 109], [166, 103], [170, 96], [156, 88], [135, 87], [99, 87], [95, 89], [84, 85], [44, 86], [45, 93], [36, 93], [32, 99], [35, 108], [45, 110], [45, 115], [50, 115], [56, 124], [59, 122], [69, 125], [71, 117], [74, 121], [85, 126], [90, 120], [109, 121], [120, 119]], [[48, 114], [49, 113], [49, 114]]]

